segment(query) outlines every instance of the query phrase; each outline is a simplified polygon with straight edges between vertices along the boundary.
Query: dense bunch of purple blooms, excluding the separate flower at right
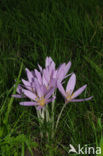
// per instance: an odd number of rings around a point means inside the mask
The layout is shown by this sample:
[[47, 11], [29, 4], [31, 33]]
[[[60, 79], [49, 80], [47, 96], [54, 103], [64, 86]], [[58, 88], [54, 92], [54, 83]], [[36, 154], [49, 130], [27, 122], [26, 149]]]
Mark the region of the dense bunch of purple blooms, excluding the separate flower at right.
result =
[[68, 73], [71, 62], [63, 63], [56, 69], [51, 57], [46, 57], [45, 68], [39, 64], [39, 70], [30, 71], [26, 68], [27, 80], [22, 79], [22, 85], [18, 85], [15, 98], [29, 98], [31, 101], [20, 102], [24, 106], [36, 106], [41, 109], [45, 104], [54, 100], [53, 93], [57, 88], [57, 82], [62, 82]]

